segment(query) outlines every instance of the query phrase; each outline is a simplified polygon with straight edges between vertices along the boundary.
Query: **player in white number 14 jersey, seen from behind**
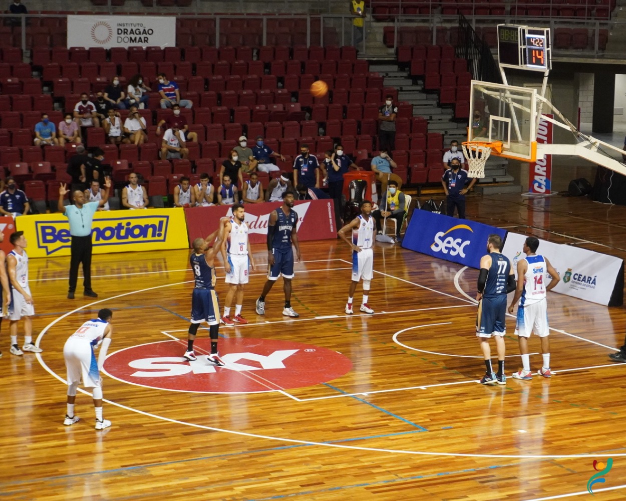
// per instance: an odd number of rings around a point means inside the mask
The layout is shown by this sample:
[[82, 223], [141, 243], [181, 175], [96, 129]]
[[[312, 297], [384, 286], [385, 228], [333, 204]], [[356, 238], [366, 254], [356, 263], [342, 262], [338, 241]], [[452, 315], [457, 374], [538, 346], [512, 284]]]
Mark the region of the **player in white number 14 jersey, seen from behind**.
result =
[[[530, 371], [530, 355], [528, 354], [528, 338], [530, 333], [535, 333], [541, 338], [541, 356], [543, 366], [537, 374], [544, 378], [551, 378], [550, 373], [550, 328], [548, 327], [548, 306], [546, 292], [557, 286], [560, 277], [550, 261], [545, 257], [535, 254], [539, 247], [539, 240], [528, 237], [522, 247], [526, 257], [517, 263], [517, 289], [509, 306], [509, 313], [513, 313], [515, 304], [517, 308], [517, 324], [515, 334], [520, 343], [522, 370], [513, 373], [516, 380], [531, 380], [533, 373]], [[552, 280], [546, 287], [546, 271], [552, 276]]]

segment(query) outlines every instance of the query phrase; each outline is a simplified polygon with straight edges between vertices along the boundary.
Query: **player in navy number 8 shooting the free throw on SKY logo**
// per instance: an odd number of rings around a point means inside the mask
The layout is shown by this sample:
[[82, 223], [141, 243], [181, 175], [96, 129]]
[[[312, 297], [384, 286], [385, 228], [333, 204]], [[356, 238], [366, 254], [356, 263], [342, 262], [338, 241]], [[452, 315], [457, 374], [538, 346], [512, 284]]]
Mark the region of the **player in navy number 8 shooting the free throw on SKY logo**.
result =
[[[213, 243], [211, 249], [208, 244], [213, 242], [217, 235], [217, 240]], [[215, 276], [214, 261], [215, 256], [222, 247], [223, 238], [223, 221], [220, 220], [220, 226], [206, 239], [197, 238], [193, 240], [193, 252], [189, 261], [193, 270], [193, 279], [195, 287], [193, 287], [192, 295], [192, 315], [191, 325], [189, 326], [187, 336], [187, 351], [183, 355], [189, 361], [196, 360], [193, 353], [193, 341], [195, 341], [198, 327], [202, 322], [208, 323], [209, 337], [211, 338], [211, 354], [207, 356], [207, 360], [216, 366], [225, 365], [217, 351], [218, 330], [220, 328], [220, 305], [217, 302], [217, 292], [215, 292]]]

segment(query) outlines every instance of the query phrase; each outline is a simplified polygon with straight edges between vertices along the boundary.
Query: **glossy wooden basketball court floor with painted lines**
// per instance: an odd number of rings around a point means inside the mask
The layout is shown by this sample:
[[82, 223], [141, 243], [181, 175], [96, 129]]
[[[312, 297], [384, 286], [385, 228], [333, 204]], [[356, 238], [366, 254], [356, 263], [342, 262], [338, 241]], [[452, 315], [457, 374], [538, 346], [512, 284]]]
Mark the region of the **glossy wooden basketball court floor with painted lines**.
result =
[[[471, 197], [468, 217], [626, 257], [626, 207], [493, 195]], [[607, 356], [623, 343], [623, 307], [550, 293], [555, 376], [510, 378], [521, 361], [509, 318], [509, 379], [482, 386], [471, 299], [478, 271], [377, 244], [376, 313], [346, 316], [347, 246], [301, 249], [292, 297], [300, 318], [282, 316], [280, 281], [265, 317], [255, 314], [265, 281], [257, 269], [245, 293], [250, 324], [220, 328], [222, 355], [239, 353], [234, 368], [193, 370], [182, 359], [193, 287], [187, 251], [95, 256], [95, 302], [65, 299], [69, 258], [31, 259], [34, 336], [44, 352], [9, 354], [4, 321], [2, 497], [538, 501], [588, 495], [594, 460], [602, 469], [612, 458], [593, 491], [623, 499], [626, 364]], [[265, 264], [265, 247], [254, 252]], [[81, 421], [63, 426], [63, 344], [101, 307], [114, 314], [103, 386], [113, 426], [93, 429], [85, 393], [76, 398]], [[205, 329], [197, 346], [207, 353]], [[538, 348], [531, 339], [535, 371]]]

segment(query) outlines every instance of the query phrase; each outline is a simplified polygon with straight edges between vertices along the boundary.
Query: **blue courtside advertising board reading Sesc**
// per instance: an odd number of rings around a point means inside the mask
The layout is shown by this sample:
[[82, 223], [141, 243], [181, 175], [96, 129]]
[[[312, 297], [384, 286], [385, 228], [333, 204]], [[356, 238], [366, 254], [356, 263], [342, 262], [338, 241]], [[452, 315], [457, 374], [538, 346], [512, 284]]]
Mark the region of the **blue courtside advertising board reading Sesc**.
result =
[[402, 241], [404, 249], [480, 268], [480, 258], [487, 253], [489, 235], [505, 239], [506, 230], [456, 219], [428, 210], [415, 210]]

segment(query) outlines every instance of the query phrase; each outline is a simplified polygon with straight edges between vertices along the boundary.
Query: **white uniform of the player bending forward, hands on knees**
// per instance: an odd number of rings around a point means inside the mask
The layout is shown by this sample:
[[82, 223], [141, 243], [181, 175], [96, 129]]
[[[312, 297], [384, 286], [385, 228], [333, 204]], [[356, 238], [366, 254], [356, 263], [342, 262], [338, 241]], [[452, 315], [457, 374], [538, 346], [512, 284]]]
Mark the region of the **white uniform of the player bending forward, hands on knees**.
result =
[[68, 369], [68, 385], [80, 383], [81, 379], [87, 388], [101, 385], [93, 347], [103, 338], [106, 326], [108, 322], [99, 318], [88, 320], [65, 341], [63, 358]]

